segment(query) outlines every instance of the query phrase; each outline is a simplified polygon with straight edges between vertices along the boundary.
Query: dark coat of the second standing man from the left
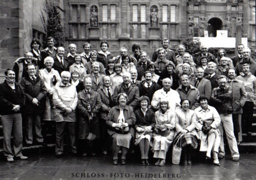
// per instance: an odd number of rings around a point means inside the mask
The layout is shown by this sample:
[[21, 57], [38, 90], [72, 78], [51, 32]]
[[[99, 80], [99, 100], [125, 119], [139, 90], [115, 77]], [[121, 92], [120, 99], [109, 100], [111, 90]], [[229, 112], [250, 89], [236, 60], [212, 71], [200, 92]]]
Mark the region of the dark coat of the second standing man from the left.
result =
[[[32, 81], [30, 77], [24, 77], [20, 81], [23, 91], [26, 95], [26, 103], [24, 106], [25, 114], [41, 114], [45, 111], [45, 101], [47, 88], [44, 80], [37, 77]], [[38, 105], [32, 103], [33, 98], [38, 100]]]

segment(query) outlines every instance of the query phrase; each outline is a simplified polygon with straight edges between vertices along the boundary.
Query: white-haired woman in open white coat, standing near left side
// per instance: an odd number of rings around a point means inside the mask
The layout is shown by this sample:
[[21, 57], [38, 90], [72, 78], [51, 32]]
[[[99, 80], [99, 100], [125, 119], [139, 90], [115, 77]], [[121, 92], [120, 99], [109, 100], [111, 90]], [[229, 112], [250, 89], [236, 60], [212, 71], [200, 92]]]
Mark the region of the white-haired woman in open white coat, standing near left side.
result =
[[39, 77], [44, 80], [46, 89], [47, 89], [47, 97], [46, 97], [46, 108], [44, 113], [43, 120], [51, 121], [53, 119], [52, 113], [52, 95], [54, 86], [57, 82], [60, 82], [59, 73], [52, 68], [54, 60], [52, 57], [48, 56], [44, 59], [44, 64], [46, 66], [45, 69], [39, 70]]

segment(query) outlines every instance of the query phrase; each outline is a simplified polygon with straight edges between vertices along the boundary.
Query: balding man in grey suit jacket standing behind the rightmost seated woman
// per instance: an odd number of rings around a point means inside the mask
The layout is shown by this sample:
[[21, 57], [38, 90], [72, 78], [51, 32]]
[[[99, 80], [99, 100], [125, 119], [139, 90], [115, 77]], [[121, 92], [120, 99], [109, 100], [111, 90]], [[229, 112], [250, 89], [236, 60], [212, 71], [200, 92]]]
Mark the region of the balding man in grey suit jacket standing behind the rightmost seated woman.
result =
[[209, 80], [204, 78], [203, 68], [197, 68], [195, 87], [198, 89], [200, 96], [204, 95], [205, 97], [207, 97], [207, 99], [210, 99], [211, 84]]

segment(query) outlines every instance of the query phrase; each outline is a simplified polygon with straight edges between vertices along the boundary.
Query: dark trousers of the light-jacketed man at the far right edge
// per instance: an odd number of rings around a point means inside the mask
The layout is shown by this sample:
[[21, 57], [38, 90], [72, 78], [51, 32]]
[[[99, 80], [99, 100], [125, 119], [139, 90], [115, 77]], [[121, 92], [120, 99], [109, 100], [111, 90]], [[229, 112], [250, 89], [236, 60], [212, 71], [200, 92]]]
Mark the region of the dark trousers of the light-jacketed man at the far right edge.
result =
[[242, 114], [242, 132], [252, 131], [252, 121], [253, 121], [253, 102], [246, 101], [243, 106]]

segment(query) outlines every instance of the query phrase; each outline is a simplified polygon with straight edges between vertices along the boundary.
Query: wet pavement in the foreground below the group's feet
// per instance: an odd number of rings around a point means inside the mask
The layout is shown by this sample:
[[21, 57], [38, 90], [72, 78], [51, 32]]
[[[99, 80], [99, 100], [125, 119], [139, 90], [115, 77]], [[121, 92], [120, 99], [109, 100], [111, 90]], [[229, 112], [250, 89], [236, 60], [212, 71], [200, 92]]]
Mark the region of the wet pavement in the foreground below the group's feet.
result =
[[28, 155], [29, 160], [13, 163], [1, 156], [0, 179], [256, 179], [255, 152], [241, 153], [239, 162], [232, 162], [230, 155], [226, 155], [220, 160], [220, 167], [204, 160], [190, 166], [172, 165], [170, 161], [164, 167], [141, 166], [139, 155], [131, 154], [127, 156], [126, 165], [115, 166], [110, 154], [83, 158], [66, 153], [56, 159], [53, 152], [53, 149], [26, 151], [24, 155]]

